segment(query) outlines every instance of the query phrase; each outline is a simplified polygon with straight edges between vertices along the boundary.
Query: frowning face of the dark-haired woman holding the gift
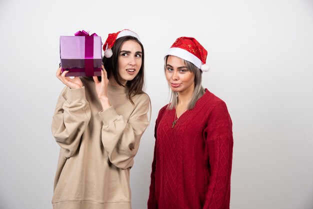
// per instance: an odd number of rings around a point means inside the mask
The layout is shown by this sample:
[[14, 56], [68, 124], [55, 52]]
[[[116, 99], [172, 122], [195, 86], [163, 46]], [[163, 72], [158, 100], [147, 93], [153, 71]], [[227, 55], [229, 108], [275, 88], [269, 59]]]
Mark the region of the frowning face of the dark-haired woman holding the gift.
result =
[[125, 84], [127, 80], [132, 80], [141, 67], [142, 50], [135, 40], [126, 40], [120, 46], [118, 55], [118, 77], [120, 82]]

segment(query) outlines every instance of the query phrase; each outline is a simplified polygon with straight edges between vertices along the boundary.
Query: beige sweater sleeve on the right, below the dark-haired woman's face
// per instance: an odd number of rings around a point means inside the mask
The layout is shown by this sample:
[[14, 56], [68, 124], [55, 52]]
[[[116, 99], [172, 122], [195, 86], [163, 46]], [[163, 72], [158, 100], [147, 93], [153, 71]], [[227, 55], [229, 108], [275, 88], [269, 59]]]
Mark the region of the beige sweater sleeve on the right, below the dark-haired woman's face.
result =
[[126, 169], [133, 165], [133, 157], [138, 151], [141, 135], [149, 121], [147, 112], [150, 99], [141, 94], [129, 119], [118, 115], [113, 106], [99, 115], [103, 121], [101, 140], [110, 162], [118, 168]]

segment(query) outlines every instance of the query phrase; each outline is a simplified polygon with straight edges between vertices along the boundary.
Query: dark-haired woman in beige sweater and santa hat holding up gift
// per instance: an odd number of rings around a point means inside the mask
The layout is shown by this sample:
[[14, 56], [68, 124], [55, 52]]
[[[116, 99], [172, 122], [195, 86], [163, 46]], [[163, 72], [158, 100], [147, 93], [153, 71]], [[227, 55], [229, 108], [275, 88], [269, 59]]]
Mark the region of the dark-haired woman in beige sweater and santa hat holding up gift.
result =
[[[110, 33], [99, 77], [65, 76], [52, 119], [60, 145], [53, 208], [131, 208], [129, 169], [148, 125], [144, 51], [136, 33]], [[103, 66], [102, 66], [103, 67]]]

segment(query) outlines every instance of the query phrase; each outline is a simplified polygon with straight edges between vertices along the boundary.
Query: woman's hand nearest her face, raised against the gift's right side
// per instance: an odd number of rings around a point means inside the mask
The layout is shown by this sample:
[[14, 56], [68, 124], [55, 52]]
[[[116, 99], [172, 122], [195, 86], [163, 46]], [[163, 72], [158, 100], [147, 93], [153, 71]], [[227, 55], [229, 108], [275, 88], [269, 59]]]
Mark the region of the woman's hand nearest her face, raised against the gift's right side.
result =
[[93, 76], [94, 84], [95, 84], [95, 91], [98, 95], [98, 98], [101, 102], [102, 108], [107, 109], [111, 106], [108, 98], [107, 98], [107, 85], [108, 85], [108, 78], [106, 70], [104, 69], [104, 66], [102, 65], [101, 70], [101, 82], [99, 82], [97, 76]]

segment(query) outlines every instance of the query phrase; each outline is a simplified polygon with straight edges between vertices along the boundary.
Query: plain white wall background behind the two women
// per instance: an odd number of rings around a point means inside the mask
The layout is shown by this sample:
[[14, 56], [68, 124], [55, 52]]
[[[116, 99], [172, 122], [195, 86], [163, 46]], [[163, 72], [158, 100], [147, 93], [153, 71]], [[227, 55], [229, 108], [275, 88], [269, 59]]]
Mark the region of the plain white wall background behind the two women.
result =
[[59, 36], [84, 29], [104, 42], [124, 28], [144, 45], [152, 102], [133, 208], [146, 208], [154, 121], [169, 95], [163, 54], [179, 36], [208, 50], [202, 84], [233, 121], [230, 208], [313, 208], [312, 0], [0, 0], [0, 208], [52, 208]]

